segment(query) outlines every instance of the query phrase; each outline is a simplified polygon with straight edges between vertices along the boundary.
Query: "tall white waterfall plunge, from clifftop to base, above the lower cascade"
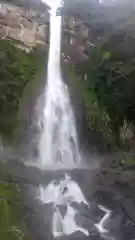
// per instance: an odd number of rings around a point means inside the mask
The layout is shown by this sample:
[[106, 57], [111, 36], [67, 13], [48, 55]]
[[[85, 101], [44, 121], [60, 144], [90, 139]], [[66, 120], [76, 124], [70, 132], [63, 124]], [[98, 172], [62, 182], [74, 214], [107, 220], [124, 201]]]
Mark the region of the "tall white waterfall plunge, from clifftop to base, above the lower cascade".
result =
[[48, 76], [39, 151], [42, 165], [64, 164], [68, 167], [79, 163], [80, 155], [68, 88], [61, 78], [61, 24], [61, 16], [56, 16], [56, 8], [52, 8]]

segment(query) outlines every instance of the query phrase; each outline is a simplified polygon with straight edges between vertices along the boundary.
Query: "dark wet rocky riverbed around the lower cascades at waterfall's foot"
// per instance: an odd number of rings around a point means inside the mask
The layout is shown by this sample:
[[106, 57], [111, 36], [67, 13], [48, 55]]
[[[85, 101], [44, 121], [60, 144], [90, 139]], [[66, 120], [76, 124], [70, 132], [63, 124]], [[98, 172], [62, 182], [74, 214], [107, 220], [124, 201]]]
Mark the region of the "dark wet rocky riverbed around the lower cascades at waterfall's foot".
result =
[[[134, 177], [132, 185], [129, 185], [128, 170], [118, 172], [118, 169], [103, 167], [96, 169], [73, 169], [42, 171], [37, 167], [25, 166], [19, 161], [8, 160], [2, 165], [0, 180], [6, 179], [6, 173], [10, 173], [10, 181], [21, 184], [23, 189], [22, 205], [24, 209], [24, 219], [28, 229], [32, 233], [32, 239], [54, 239], [52, 235], [52, 218], [54, 214], [53, 203], [43, 203], [40, 199], [39, 189], [44, 189], [52, 181], [56, 185], [68, 174], [71, 179], [78, 184], [83, 196], [89, 203], [89, 207], [84, 203], [72, 202], [73, 209], [76, 209], [76, 222], [84, 227], [90, 234], [90, 239], [118, 239], [132, 240], [135, 238], [135, 194]], [[6, 169], [6, 170], [5, 170]], [[124, 178], [124, 181], [123, 181]], [[131, 175], [130, 175], [131, 178]], [[105, 228], [108, 233], [101, 233], [95, 227], [104, 216], [104, 212], [98, 207], [102, 205], [111, 211], [111, 217], [106, 222]], [[65, 215], [66, 209], [60, 206], [60, 212]], [[80, 231], [70, 235], [62, 236], [61, 239], [86, 239]]]

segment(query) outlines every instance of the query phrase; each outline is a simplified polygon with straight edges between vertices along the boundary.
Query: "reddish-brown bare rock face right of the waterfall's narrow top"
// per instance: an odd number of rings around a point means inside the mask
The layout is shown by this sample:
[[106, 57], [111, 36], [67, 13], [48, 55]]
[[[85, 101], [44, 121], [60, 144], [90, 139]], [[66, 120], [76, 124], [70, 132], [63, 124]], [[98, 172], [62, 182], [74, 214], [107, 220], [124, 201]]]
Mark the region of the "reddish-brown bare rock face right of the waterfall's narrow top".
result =
[[87, 59], [89, 49], [94, 46], [91, 28], [78, 17], [63, 17], [63, 51], [73, 60]]

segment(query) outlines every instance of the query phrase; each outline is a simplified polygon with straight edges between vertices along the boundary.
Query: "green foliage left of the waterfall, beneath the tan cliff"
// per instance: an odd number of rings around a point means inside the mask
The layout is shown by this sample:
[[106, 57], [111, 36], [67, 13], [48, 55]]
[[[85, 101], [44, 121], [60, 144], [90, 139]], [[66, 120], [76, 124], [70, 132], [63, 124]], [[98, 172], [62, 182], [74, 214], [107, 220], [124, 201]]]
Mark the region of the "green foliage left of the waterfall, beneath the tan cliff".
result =
[[36, 74], [39, 63], [34, 53], [26, 54], [12, 42], [0, 40], [0, 132], [10, 136], [26, 84]]

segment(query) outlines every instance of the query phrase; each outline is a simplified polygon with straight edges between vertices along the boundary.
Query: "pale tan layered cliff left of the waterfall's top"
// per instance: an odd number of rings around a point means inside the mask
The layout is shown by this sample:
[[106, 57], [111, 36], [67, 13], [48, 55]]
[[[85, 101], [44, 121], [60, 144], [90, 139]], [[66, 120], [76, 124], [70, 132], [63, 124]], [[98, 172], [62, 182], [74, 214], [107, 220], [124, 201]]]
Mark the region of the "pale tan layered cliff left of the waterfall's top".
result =
[[0, 3], [0, 38], [17, 40], [21, 45], [45, 45], [49, 37], [49, 13], [38, 9]]

